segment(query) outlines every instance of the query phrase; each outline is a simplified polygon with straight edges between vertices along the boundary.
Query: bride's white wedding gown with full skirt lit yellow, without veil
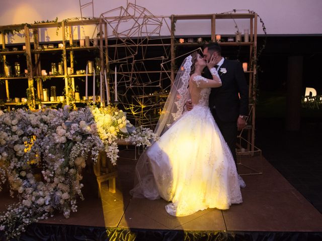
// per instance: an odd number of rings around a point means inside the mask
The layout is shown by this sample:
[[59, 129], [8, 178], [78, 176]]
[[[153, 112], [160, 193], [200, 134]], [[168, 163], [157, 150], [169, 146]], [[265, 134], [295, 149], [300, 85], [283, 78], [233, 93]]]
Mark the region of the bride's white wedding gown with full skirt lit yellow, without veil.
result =
[[172, 201], [166, 210], [174, 216], [243, 201], [233, 157], [208, 106], [210, 90], [199, 88], [198, 104], [146, 151], [154, 178], [142, 180], [141, 194]]

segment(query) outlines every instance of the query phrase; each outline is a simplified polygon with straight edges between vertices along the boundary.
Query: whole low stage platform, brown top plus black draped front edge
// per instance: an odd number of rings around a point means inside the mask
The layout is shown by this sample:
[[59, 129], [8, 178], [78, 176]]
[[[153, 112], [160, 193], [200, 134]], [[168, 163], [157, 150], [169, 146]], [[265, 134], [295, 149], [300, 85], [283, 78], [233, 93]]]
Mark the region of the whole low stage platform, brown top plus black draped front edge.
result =
[[[92, 169], [84, 173], [85, 200], [65, 219], [56, 214], [29, 226], [21, 240], [322, 240], [322, 215], [262, 157], [243, 157], [243, 164], [261, 168], [262, 175], [243, 176], [244, 202], [229, 210], [206, 209], [174, 217], [163, 199], [131, 198], [134, 151], [122, 151], [117, 164], [116, 192], [102, 183], [98, 198]], [[238, 166], [240, 174], [248, 173]], [[0, 211], [15, 201], [0, 193]], [[0, 240], [5, 240], [0, 233]]]

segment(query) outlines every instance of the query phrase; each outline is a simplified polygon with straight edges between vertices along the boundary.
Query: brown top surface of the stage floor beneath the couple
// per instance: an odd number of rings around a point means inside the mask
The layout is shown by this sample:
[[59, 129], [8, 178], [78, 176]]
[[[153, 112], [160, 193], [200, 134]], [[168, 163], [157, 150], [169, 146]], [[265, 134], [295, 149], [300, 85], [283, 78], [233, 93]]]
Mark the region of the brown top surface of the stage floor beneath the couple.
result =
[[[123, 151], [133, 156], [132, 151]], [[126, 153], [127, 152], [127, 153]], [[122, 155], [124, 156], [124, 155]], [[163, 199], [131, 198], [134, 160], [118, 160], [116, 193], [103, 184], [102, 199], [97, 197], [97, 184], [92, 173], [85, 175], [84, 201], [78, 211], [65, 219], [56, 214], [41, 223], [69, 224], [97, 227], [220, 230], [266, 232], [322, 232], [322, 215], [289, 182], [262, 157], [262, 175], [243, 176], [247, 187], [242, 189], [244, 202], [229, 210], [206, 209], [190, 216], [174, 217], [165, 210]], [[243, 159], [244, 164], [259, 168], [259, 158]], [[238, 166], [239, 173], [248, 169]], [[14, 201], [8, 192], [0, 193], [0, 211]]]

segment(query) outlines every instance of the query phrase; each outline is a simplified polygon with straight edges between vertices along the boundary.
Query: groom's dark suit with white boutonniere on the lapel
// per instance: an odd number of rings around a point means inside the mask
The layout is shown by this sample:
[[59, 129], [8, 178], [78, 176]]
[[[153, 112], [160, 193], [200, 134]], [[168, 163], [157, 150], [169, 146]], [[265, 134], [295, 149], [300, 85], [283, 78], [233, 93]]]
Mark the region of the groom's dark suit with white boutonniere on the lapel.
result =
[[[243, 66], [237, 60], [224, 60], [218, 69], [222, 86], [212, 88], [209, 96], [209, 107], [236, 160], [237, 118], [239, 114], [248, 115], [248, 85]], [[212, 79], [208, 68], [204, 77]], [[239, 96], [238, 96], [239, 93]]]

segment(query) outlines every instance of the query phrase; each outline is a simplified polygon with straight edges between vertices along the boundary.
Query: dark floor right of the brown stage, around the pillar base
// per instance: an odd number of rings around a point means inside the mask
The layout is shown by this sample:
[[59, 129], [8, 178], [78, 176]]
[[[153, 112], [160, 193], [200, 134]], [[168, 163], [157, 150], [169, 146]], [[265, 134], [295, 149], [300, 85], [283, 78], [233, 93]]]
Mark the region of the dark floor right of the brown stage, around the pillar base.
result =
[[263, 156], [322, 213], [322, 120], [305, 118], [298, 132], [284, 118], [256, 120], [256, 146]]

